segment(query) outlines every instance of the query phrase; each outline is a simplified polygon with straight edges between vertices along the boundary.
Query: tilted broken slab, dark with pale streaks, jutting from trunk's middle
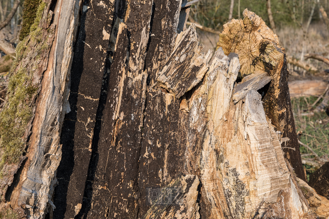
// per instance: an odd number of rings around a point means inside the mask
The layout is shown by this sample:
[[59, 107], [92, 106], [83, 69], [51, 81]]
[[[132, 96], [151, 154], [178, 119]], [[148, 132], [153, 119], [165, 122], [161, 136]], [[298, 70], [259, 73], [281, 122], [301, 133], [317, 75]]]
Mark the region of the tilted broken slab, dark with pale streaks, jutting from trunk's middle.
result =
[[191, 25], [177, 40], [179, 42], [159, 72], [157, 81], [160, 86], [174, 93], [176, 98], [180, 98], [203, 78], [208, 70], [211, 51], [207, 55], [203, 54], [203, 45], [198, 42], [195, 25]]

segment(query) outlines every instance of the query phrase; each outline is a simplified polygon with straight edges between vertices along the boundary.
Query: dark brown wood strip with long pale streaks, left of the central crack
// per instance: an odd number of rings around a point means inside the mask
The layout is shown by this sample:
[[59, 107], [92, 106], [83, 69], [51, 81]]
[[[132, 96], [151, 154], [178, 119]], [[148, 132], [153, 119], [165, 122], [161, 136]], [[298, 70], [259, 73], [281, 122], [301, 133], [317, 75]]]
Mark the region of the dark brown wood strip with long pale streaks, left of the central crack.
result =
[[[118, 214], [116, 217], [132, 218], [138, 212], [135, 205], [140, 196], [137, 189], [138, 159], [147, 79], [147, 74], [142, 71], [152, 2], [129, 2], [126, 9], [124, 16], [121, 16], [124, 13], [118, 15], [118, 19], [122, 19], [116, 21], [119, 22], [117, 37], [113, 39], [116, 45], [112, 45], [112, 40], [110, 42], [110, 50], [116, 51], [109, 69], [108, 98], [95, 151], [97, 158], [92, 161], [96, 163], [91, 164], [94, 167], [89, 172], [89, 179], [94, 183], [85, 190], [87, 209], [81, 214], [85, 216], [97, 214], [103, 218]], [[127, 169], [131, 170], [129, 174], [126, 174]], [[121, 186], [117, 187], [119, 184]], [[115, 200], [112, 196], [116, 197]]]

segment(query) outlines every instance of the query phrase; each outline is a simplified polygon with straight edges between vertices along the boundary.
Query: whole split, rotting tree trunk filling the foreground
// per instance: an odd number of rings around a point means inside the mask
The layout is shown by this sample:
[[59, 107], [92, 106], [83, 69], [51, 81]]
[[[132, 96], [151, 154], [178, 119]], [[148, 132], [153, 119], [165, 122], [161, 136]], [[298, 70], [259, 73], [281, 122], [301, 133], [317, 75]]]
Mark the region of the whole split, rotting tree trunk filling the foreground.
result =
[[[261, 18], [226, 24], [212, 56], [180, 1], [79, 4], [41, 3], [16, 50], [1, 127], [27, 144], [10, 158], [0, 129], [2, 215], [329, 216], [303, 184], [284, 49]], [[13, 106], [29, 113], [4, 120]]]

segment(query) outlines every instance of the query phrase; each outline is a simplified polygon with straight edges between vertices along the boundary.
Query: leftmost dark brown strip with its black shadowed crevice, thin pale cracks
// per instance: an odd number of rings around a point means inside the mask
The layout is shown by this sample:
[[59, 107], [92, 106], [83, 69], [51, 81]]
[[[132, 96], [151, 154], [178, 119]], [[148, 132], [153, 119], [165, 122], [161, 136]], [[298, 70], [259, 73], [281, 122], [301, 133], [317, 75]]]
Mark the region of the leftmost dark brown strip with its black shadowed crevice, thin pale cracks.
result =
[[85, 1], [82, 6], [72, 63], [71, 112], [65, 117], [61, 137], [63, 157], [57, 171], [59, 186], [55, 189], [54, 218], [62, 218], [62, 215], [74, 218], [82, 206], [112, 28], [113, 2], [100, 5]]

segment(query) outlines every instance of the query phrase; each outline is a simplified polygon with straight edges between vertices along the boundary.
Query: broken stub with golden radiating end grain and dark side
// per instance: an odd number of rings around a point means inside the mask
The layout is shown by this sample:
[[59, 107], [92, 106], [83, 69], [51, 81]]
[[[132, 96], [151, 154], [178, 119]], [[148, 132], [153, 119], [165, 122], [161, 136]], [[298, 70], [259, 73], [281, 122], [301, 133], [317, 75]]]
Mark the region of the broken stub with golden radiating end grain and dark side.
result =
[[241, 77], [257, 70], [265, 71], [271, 77], [271, 83], [260, 90], [266, 116], [282, 137], [290, 139], [285, 144], [295, 150], [285, 147], [285, 158], [297, 176], [306, 180], [293, 120], [284, 48], [279, 46], [277, 35], [266, 26], [262, 18], [247, 9], [243, 11], [243, 16], [243, 20], [232, 19], [224, 25], [217, 48], [222, 47], [226, 55], [231, 52], [239, 54]]

